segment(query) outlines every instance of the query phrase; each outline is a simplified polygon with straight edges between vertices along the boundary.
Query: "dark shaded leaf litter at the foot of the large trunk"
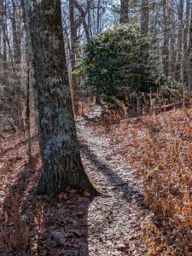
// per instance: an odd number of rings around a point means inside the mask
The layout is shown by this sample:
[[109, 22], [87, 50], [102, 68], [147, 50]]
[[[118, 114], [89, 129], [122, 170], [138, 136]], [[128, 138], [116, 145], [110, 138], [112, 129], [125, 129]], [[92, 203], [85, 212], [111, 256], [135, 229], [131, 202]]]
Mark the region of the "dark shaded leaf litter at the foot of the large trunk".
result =
[[[33, 194], [41, 170], [37, 154], [10, 186], [0, 222], [0, 255], [87, 256], [88, 209], [94, 197], [67, 189], [55, 199]], [[8, 174], [9, 175], [9, 174]]]

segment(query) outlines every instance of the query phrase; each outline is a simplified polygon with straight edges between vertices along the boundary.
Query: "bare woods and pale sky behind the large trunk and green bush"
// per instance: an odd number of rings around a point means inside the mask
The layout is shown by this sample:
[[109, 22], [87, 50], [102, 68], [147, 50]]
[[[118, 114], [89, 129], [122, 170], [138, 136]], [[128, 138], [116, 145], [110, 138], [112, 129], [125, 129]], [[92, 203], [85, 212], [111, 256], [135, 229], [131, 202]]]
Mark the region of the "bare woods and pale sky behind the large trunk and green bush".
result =
[[[119, 23], [137, 26], [146, 40], [153, 38], [154, 66], [169, 87], [192, 90], [191, 0], [63, 0], [61, 11], [75, 113], [79, 113], [82, 81], [74, 73], [84, 57], [84, 45]], [[0, 0], [0, 105], [1, 114], [9, 117], [13, 129], [25, 125], [22, 120], [27, 102], [25, 20], [24, 1]], [[32, 102], [31, 99], [31, 105]]]

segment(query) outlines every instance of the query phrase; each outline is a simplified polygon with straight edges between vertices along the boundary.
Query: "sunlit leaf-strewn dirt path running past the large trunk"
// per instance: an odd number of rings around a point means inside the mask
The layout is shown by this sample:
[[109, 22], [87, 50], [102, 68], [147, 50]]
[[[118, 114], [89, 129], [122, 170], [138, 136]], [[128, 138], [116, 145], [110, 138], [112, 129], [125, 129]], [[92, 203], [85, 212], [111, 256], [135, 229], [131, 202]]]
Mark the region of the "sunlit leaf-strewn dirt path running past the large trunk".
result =
[[[94, 115], [99, 115], [96, 108]], [[142, 181], [129, 169], [121, 155], [113, 155], [110, 134], [98, 135], [95, 126], [84, 119], [78, 122], [78, 133], [87, 171], [99, 196], [88, 212], [89, 255], [144, 255], [141, 227], [152, 214], [143, 207]]]

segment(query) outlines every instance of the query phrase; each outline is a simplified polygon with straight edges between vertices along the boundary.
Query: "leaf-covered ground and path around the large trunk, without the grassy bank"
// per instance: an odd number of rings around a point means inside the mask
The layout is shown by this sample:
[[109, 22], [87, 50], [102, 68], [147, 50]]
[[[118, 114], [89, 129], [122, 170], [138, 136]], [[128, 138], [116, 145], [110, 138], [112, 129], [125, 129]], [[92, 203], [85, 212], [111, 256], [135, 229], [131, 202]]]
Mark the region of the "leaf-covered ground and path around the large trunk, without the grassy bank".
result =
[[[126, 125], [125, 139], [123, 135], [119, 137], [119, 125], [112, 129], [110, 125], [97, 124], [101, 111], [101, 107], [96, 107], [77, 120], [84, 167], [102, 193], [97, 197], [90, 196], [88, 191], [79, 195], [74, 189], [67, 189], [51, 200], [36, 197], [32, 192], [41, 172], [37, 137], [32, 137], [33, 162], [29, 166], [25, 138], [3, 135], [0, 255], [185, 255], [160, 253], [161, 242], [147, 239], [146, 227], [156, 224], [158, 219], [143, 203], [143, 177], [132, 166], [136, 159], [128, 160], [123, 154], [128, 141], [131, 144], [137, 140], [134, 131], [142, 135], [139, 119], [134, 119], [131, 126]], [[155, 239], [165, 241], [161, 231], [157, 231]], [[151, 236], [155, 236], [153, 230]], [[174, 246], [177, 245], [170, 243], [170, 247]]]

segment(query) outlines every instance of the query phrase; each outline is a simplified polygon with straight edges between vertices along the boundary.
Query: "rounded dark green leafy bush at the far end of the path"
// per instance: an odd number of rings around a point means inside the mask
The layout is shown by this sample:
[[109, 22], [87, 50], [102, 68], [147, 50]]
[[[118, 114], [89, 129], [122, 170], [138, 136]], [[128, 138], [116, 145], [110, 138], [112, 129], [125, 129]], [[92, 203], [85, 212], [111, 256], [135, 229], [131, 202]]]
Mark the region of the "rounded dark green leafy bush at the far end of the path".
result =
[[127, 92], [149, 92], [157, 88], [157, 73], [150, 57], [152, 39], [143, 39], [137, 26], [115, 26], [85, 46], [86, 75], [102, 100], [113, 105]]

